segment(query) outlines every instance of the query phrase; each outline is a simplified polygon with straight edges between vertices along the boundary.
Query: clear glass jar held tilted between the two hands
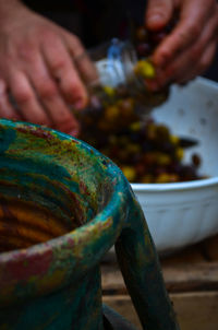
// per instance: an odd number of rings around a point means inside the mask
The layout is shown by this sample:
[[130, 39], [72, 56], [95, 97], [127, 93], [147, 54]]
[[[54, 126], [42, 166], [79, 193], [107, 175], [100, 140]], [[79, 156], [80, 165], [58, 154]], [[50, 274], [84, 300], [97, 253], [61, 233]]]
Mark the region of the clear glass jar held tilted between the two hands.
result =
[[113, 38], [90, 50], [89, 57], [95, 62], [98, 73], [98, 80], [89, 86], [90, 94], [101, 98], [106, 96], [99, 93], [101, 87], [113, 89], [118, 94], [122, 91], [134, 98], [135, 110], [141, 117], [147, 117], [154, 107], [167, 99], [169, 89], [150, 92], [146, 89], [144, 78], [136, 73], [138, 59], [130, 42]]

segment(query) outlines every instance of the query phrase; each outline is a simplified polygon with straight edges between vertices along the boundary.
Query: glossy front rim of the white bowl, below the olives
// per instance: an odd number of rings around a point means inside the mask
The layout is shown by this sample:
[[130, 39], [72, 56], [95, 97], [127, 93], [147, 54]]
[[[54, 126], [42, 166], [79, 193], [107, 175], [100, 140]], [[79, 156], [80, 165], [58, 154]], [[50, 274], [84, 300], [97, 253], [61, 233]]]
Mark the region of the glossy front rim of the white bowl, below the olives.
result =
[[213, 187], [218, 185], [218, 176], [206, 179], [197, 179], [194, 181], [169, 182], [169, 184], [134, 184], [131, 186], [134, 191], [173, 191], [173, 190], [191, 190], [198, 188]]

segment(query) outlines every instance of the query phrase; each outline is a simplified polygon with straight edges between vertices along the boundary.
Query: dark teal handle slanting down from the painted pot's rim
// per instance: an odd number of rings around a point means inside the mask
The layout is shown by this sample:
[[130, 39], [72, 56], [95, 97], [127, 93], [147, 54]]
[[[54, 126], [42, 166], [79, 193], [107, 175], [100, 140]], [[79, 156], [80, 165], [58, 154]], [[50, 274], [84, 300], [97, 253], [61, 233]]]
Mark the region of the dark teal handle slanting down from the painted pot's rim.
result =
[[125, 285], [143, 329], [179, 330], [143, 211], [136, 200], [131, 207], [116, 243]]

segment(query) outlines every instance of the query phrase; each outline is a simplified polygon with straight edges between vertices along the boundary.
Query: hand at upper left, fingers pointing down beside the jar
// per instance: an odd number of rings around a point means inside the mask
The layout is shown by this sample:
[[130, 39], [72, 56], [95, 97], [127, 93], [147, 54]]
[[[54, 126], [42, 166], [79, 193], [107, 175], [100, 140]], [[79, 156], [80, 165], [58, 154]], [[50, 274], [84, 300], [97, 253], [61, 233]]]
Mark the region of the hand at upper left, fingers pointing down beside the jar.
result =
[[[0, 1], [0, 117], [46, 125], [76, 135], [70, 105], [81, 109], [82, 82], [96, 72], [76, 36], [32, 12], [19, 1]], [[10, 1], [9, 1], [10, 2]], [[15, 4], [15, 5], [14, 5]], [[2, 11], [1, 11], [2, 10]], [[74, 60], [74, 61], [73, 61]], [[16, 104], [10, 103], [11, 95]]]

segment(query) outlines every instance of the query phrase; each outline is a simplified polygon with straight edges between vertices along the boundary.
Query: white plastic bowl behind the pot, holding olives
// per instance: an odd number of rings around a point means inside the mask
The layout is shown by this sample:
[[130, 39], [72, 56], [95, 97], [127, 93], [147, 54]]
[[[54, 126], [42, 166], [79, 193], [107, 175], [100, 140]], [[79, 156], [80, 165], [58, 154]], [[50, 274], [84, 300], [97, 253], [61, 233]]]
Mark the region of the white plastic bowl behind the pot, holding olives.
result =
[[157, 122], [180, 137], [196, 138], [185, 151], [201, 155], [206, 179], [177, 184], [132, 184], [159, 252], [168, 252], [218, 233], [218, 84], [203, 78], [173, 86], [154, 111]]

